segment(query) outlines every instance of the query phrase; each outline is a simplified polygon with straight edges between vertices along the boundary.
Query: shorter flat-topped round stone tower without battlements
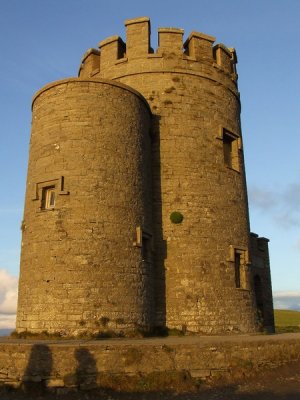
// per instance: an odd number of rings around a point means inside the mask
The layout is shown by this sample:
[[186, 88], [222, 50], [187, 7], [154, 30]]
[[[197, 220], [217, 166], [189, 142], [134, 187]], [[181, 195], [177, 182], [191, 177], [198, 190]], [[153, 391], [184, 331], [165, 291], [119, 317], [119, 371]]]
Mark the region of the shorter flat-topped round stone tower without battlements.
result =
[[35, 95], [19, 332], [153, 325], [149, 128], [122, 83], [66, 79]]

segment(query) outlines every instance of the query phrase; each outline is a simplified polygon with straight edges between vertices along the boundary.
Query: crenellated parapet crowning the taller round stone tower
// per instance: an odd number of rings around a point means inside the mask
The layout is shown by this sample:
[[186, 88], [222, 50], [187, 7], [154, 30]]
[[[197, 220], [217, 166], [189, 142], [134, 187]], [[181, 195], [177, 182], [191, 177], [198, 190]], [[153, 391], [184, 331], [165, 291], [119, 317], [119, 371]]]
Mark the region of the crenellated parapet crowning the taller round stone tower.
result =
[[128, 74], [172, 70], [200, 74], [236, 91], [235, 50], [223, 44], [214, 46], [215, 37], [192, 32], [183, 42], [183, 29], [159, 28], [158, 47], [153, 50], [149, 18], [126, 20], [125, 26], [126, 43], [119, 36], [101, 41], [99, 53], [93, 49], [83, 57], [79, 76], [118, 79]]

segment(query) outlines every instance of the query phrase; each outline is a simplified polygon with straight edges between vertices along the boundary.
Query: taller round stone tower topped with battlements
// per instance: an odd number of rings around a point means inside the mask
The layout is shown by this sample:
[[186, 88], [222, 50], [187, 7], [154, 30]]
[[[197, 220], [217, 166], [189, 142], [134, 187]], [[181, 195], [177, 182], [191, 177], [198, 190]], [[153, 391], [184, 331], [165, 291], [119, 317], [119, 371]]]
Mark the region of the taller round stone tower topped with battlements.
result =
[[156, 324], [255, 331], [236, 53], [199, 32], [183, 44], [175, 28], [159, 29], [154, 52], [148, 18], [125, 24], [126, 44], [100, 42], [79, 75], [133, 87], [153, 113]]

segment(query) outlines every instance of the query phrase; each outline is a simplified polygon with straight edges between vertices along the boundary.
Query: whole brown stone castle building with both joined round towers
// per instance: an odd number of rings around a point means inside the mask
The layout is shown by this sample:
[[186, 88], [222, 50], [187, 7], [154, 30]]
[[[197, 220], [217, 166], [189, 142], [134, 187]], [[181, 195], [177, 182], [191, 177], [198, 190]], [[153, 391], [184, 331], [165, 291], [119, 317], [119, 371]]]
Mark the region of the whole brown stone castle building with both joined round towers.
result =
[[236, 53], [175, 28], [154, 52], [148, 18], [125, 24], [126, 44], [100, 42], [78, 78], [34, 97], [17, 329], [272, 329], [267, 245], [264, 296], [251, 265]]

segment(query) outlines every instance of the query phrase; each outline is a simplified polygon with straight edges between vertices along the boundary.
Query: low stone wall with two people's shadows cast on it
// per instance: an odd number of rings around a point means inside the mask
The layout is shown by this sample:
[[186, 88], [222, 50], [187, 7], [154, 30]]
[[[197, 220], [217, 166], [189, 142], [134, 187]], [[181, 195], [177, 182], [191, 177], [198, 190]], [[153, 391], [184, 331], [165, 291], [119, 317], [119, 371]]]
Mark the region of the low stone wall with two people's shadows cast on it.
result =
[[202, 381], [234, 383], [256, 376], [299, 361], [299, 354], [300, 333], [99, 341], [2, 338], [0, 386], [188, 391]]

